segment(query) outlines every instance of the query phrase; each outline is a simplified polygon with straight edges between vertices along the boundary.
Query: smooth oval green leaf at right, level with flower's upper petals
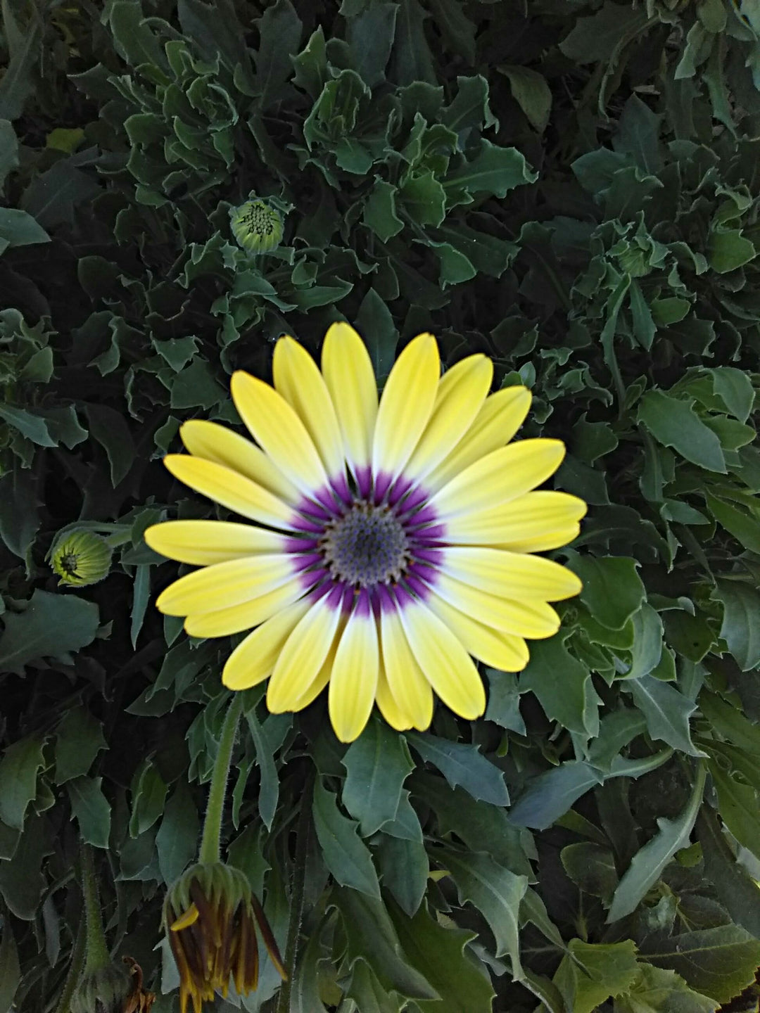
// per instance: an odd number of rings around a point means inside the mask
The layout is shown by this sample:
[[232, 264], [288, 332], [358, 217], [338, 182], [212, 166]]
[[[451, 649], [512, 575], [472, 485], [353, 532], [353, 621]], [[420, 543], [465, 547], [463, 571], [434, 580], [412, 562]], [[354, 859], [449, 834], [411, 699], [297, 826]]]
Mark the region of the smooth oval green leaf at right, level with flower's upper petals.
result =
[[663, 390], [650, 390], [638, 405], [637, 420], [664, 447], [708, 471], [726, 474], [720, 441], [699, 418], [691, 402], [671, 397]]

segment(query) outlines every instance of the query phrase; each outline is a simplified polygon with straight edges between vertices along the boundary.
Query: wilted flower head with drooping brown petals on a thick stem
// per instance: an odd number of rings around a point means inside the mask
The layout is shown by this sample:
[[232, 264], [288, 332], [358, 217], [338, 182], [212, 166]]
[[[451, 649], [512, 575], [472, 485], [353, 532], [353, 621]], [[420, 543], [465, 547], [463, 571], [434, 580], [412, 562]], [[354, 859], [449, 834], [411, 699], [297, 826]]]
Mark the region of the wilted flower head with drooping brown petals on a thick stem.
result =
[[285, 979], [272, 929], [242, 872], [222, 862], [200, 862], [174, 883], [164, 903], [164, 927], [179, 971], [181, 1013], [188, 999], [195, 1013], [201, 1013], [204, 1000], [213, 1001], [215, 990], [226, 996], [230, 978], [239, 995], [256, 988], [256, 925]]

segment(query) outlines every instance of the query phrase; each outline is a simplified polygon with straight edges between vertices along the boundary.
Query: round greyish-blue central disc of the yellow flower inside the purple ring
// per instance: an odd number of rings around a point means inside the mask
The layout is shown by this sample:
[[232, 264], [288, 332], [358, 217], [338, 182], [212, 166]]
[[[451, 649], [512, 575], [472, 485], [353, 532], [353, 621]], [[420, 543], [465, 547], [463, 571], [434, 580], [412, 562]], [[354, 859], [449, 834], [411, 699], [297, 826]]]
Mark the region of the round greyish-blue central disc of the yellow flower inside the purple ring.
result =
[[406, 532], [388, 506], [355, 503], [320, 540], [332, 576], [367, 588], [399, 580], [409, 558]]

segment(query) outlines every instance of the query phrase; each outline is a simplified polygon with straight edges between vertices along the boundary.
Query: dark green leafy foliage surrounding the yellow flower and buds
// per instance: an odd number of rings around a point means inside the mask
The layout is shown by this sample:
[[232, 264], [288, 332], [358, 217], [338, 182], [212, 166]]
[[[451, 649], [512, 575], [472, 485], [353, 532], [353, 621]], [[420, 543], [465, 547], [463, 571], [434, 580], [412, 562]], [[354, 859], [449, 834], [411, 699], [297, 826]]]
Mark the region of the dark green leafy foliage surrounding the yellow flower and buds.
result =
[[[490, 356], [590, 513], [557, 553], [580, 599], [525, 672], [484, 673], [484, 719], [373, 719], [347, 749], [323, 701], [247, 693], [224, 838], [281, 946], [302, 918], [291, 1010], [706, 1013], [747, 990], [757, 3], [3, 0], [2, 49], [0, 1010], [57, 1008], [82, 840], [115, 955], [178, 1009], [160, 906], [229, 643], [158, 615], [176, 566], [142, 533], [215, 516], [160, 465], [179, 423], [238, 424], [228, 375], [269, 379], [281, 332], [317, 353], [336, 319], [381, 381], [421, 330], [447, 365]], [[292, 206], [256, 259], [229, 231], [250, 192]], [[115, 550], [92, 587], [46, 558], [71, 526]], [[278, 985], [264, 960], [216, 1008], [274, 1011]]]

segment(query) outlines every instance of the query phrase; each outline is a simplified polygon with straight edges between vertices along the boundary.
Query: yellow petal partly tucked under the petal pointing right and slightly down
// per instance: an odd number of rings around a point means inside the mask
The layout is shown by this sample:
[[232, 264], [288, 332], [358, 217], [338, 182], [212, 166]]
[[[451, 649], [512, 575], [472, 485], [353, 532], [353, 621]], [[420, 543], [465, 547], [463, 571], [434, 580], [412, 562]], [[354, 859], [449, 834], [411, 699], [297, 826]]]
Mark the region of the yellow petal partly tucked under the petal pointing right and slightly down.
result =
[[446, 573], [436, 576], [436, 594], [449, 605], [468, 616], [477, 616], [478, 622], [495, 629], [524, 636], [533, 640], [553, 636], [559, 629], [559, 616], [546, 602], [516, 602], [498, 598], [480, 591]]

